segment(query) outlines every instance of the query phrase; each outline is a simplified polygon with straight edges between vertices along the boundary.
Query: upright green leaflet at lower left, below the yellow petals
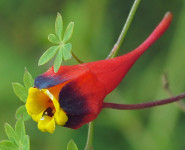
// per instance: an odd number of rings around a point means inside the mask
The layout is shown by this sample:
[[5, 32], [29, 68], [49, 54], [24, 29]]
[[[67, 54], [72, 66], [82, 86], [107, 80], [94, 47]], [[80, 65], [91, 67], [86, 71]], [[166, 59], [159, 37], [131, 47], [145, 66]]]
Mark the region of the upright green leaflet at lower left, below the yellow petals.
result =
[[25, 137], [25, 126], [24, 126], [24, 121], [23, 118], [17, 120], [15, 124], [15, 133], [18, 137], [19, 145], [23, 143], [24, 137]]

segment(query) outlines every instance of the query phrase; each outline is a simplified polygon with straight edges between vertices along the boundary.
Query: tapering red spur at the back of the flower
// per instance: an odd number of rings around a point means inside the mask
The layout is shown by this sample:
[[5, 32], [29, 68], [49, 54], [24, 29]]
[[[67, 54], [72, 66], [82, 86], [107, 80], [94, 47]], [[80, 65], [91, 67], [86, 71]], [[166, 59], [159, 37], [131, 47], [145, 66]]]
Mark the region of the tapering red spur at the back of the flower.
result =
[[135, 61], [167, 30], [171, 20], [172, 14], [166, 13], [150, 36], [130, 53], [114, 59], [87, 64], [98, 80], [105, 85], [107, 93], [110, 93], [120, 83]]

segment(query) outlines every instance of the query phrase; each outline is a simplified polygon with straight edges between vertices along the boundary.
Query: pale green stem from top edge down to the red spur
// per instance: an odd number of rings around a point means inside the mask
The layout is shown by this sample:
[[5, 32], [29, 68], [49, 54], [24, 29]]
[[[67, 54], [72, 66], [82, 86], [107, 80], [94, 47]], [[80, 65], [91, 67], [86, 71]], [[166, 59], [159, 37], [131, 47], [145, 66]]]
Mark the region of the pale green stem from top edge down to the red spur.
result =
[[134, 1], [134, 4], [132, 5], [132, 8], [131, 8], [130, 13], [128, 15], [128, 18], [126, 20], [126, 23], [123, 26], [123, 29], [121, 31], [121, 34], [120, 34], [116, 44], [114, 45], [113, 49], [111, 50], [110, 54], [108, 55], [107, 59], [115, 57], [115, 55], [118, 53], [119, 48], [120, 48], [121, 44], [123, 43], [123, 40], [127, 34], [127, 31], [132, 23], [132, 20], [134, 18], [135, 12], [140, 4], [140, 1], [141, 0]]

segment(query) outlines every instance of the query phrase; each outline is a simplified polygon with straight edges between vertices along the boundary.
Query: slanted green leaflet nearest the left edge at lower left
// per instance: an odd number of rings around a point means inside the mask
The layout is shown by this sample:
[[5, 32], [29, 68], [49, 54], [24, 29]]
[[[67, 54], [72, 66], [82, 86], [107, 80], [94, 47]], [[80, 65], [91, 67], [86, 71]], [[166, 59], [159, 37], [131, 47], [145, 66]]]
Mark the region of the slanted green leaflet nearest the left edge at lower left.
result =
[[4, 128], [5, 128], [6, 135], [8, 136], [8, 139], [18, 144], [17, 136], [15, 134], [14, 129], [11, 127], [11, 125], [9, 125], [8, 123], [5, 123]]

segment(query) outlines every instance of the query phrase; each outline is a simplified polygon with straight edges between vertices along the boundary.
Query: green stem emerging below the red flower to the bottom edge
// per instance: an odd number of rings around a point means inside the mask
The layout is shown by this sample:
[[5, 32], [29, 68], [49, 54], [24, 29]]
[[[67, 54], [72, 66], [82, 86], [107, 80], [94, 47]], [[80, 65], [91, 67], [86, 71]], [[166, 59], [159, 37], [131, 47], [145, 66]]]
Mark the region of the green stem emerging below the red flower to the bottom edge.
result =
[[87, 143], [86, 143], [85, 150], [93, 150], [93, 147], [92, 147], [93, 131], [94, 131], [94, 123], [90, 122], [89, 123], [88, 137], [87, 137]]

